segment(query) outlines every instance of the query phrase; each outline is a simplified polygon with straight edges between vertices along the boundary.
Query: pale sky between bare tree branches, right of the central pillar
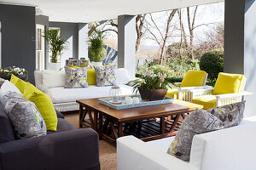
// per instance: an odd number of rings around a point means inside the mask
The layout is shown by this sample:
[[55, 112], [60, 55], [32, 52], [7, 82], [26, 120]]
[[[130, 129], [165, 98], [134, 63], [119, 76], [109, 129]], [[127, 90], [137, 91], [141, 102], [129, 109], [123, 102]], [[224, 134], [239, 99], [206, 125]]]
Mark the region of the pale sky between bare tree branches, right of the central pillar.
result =
[[[195, 7], [190, 9], [190, 12], [194, 10]], [[171, 10], [172, 11], [172, 10]], [[155, 20], [155, 23], [157, 26], [159, 26], [160, 31], [165, 32], [166, 31], [166, 20], [167, 20], [167, 14], [169, 14], [171, 11], [163, 11], [158, 13], [152, 13], [152, 16]], [[183, 18], [183, 25], [185, 26], [185, 31], [187, 34], [189, 33], [188, 30], [188, 24], [187, 24], [187, 13], [186, 9], [182, 9], [182, 18]], [[167, 14], [166, 14], [167, 13]], [[149, 19], [149, 16], [148, 16]], [[205, 37], [205, 33], [209, 31], [209, 29], [212, 28], [212, 26], [216, 26], [218, 24], [224, 24], [224, 3], [212, 3], [207, 5], [201, 5], [198, 6], [197, 13], [196, 13], [196, 19], [195, 19], [195, 26], [199, 26], [201, 24], [206, 24], [207, 26], [200, 26], [195, 29], [195, 43], [203, 39]], [[174, 17], [171, 24], [171, 32], [175, 26], [179, 26], [178, 17]], [[160, 33], [154, 29], [153, 27], [150, 27], [150, 30], [154, 32], [155, 35], [158, 35], [160, 37]], [[169, 42], [179, 42], [180, 32], [179, 31], [173, 31], [171, 38], [169, 38]], [[142, 44], [143, 46], [158, 46], [157, 42], [154, 40], [148, 39], [150, 34], [147, 32], [144, 37]]]

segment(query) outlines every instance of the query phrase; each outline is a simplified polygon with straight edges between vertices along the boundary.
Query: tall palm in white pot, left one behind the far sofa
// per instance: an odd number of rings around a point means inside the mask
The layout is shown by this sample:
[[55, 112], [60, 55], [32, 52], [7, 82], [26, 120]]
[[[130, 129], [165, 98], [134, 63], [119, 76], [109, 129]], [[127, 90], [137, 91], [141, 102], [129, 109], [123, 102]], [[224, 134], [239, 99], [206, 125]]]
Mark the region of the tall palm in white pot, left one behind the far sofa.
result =
[[49, 50], [51, 52], [49, 70], [59, 71], [61, 69], [61, 63], [58, 59], [61, 52], [67, 48], [67, 41], [62, 40], [60, 36], [60, 29], [49, 29], [44, 31], [44, 39], [49, 44]]

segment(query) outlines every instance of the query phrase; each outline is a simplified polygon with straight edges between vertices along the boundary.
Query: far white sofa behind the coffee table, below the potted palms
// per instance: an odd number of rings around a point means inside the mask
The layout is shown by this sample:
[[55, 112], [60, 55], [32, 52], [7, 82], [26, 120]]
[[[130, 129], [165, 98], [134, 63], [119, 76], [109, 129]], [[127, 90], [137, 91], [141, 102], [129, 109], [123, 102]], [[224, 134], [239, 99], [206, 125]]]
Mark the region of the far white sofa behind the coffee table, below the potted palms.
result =
[[[88, 88], [64, 88], [65, 71], [35, 71], [36, 87], [48, 94], [55, 109], [58, 111], [79, 110], [77, 99], [91, 99], [109, 96], [108, 87], [96, 87], [91, 85]], [[132, 87], [125, 85], [130, 77], [125, 69], [117, 69], [116, 78], [122, 95], [132, 94]]]

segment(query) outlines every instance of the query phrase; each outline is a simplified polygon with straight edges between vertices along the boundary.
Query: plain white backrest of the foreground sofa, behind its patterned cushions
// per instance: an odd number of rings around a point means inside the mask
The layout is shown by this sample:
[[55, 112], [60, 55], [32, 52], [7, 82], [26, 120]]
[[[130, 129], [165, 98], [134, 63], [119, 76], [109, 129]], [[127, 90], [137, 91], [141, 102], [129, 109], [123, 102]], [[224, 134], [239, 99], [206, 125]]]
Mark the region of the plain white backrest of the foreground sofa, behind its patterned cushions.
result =
[[256, 169], [256, 122], [195, 135], [190, 163], [201, 170]]

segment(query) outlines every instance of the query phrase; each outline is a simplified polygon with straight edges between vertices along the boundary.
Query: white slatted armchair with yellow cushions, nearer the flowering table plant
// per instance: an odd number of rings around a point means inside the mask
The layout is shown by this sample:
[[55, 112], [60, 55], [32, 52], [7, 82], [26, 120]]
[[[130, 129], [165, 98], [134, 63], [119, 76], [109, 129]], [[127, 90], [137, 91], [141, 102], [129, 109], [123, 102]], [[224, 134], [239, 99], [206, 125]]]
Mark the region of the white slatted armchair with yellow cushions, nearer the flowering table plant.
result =
[[170, 88], [167, 91], [166, 96], [174, 99], [182, 99], [185, 101], [191, 101], [191, 89], [209, 89], [210, 86], [206, 86], [207, 72], [206, 71], [188, 71], [183, 77], [182, 82], [176, 82], [175, 85], [178, 88]]

